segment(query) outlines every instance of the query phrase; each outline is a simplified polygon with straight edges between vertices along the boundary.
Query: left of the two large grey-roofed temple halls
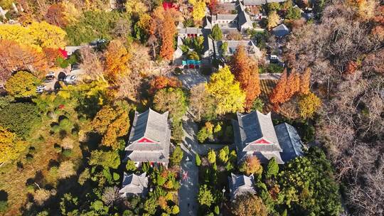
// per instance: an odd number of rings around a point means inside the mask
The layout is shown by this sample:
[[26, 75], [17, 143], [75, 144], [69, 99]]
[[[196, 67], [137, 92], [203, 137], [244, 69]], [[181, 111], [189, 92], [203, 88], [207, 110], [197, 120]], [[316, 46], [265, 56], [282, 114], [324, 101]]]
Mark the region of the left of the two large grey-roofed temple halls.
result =
[[171, 139], [168, 114], [152, 109], [142, 114], [135, 112], [124, 161], [132, 160], [136, 166], [149, 162], [151, 166], [168, 167]]

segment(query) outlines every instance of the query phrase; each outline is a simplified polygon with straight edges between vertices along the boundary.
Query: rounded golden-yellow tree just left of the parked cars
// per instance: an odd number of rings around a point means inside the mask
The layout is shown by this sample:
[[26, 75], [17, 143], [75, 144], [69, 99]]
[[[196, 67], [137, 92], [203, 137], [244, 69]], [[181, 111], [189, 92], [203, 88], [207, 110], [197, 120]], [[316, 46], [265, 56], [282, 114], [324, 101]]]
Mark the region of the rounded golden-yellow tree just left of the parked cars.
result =
[[19, 71], [6, 81], [6, 91], [14, 97], [31, 97], [36, 95], [36, 86], [40, 80], [30, 72]]

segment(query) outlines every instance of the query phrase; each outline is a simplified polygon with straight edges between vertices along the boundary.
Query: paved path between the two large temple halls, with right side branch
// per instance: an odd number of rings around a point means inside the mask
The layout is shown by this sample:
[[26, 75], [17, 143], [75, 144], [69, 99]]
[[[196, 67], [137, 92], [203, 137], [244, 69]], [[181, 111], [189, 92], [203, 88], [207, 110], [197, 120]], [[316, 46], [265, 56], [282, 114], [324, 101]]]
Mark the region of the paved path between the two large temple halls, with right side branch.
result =
[[185, 138], [181, 144], [184, 151], [183, 161], [181, 161], [181, 177], [188, 172], [186, 179], [181, 178], [181, 188], [178, 190], [178, 202], [180, 206], [180, 216], [197, 215], [198, 202], [198, 167], [195, 164], [196, 153], [206, 154], [210, 148], [220, 149], [224, 145], [202, 145], [198, 144], [196, 133], [198, 126], [193, 122], [190, 114], [183, 118], [183, 129]]

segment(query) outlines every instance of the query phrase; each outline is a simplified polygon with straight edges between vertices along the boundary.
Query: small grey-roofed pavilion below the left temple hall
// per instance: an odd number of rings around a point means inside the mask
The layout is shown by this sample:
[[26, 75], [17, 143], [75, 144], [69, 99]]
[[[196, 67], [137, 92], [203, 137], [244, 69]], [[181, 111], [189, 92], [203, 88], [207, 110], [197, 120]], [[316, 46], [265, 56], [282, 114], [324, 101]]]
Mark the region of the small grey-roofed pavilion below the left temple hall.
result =
[[132, 195], [144, 196], [147, 192], [148, 177], [146, 177], [146, 173], [142, 173], [142, 175], [124, 173], [122, 189], [119, 190], [120, 197], [127, 198]]

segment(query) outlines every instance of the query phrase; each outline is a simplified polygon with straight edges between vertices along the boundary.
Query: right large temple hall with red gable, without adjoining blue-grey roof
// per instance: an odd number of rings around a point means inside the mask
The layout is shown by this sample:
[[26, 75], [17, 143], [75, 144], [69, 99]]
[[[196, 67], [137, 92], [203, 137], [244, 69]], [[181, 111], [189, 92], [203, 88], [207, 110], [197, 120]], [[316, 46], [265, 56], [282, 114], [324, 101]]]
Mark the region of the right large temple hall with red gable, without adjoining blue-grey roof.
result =
[[274, 131], [271, 113], [262, 114], [259, 111], [238, 115], [238, 121], [233, 120], [238, 163], [242, 163], [247, 156], [256, 156], [260, 163], [268, 163], [274, 157], [279, 164], [283, 164], [280, 152], [282, 148]]

